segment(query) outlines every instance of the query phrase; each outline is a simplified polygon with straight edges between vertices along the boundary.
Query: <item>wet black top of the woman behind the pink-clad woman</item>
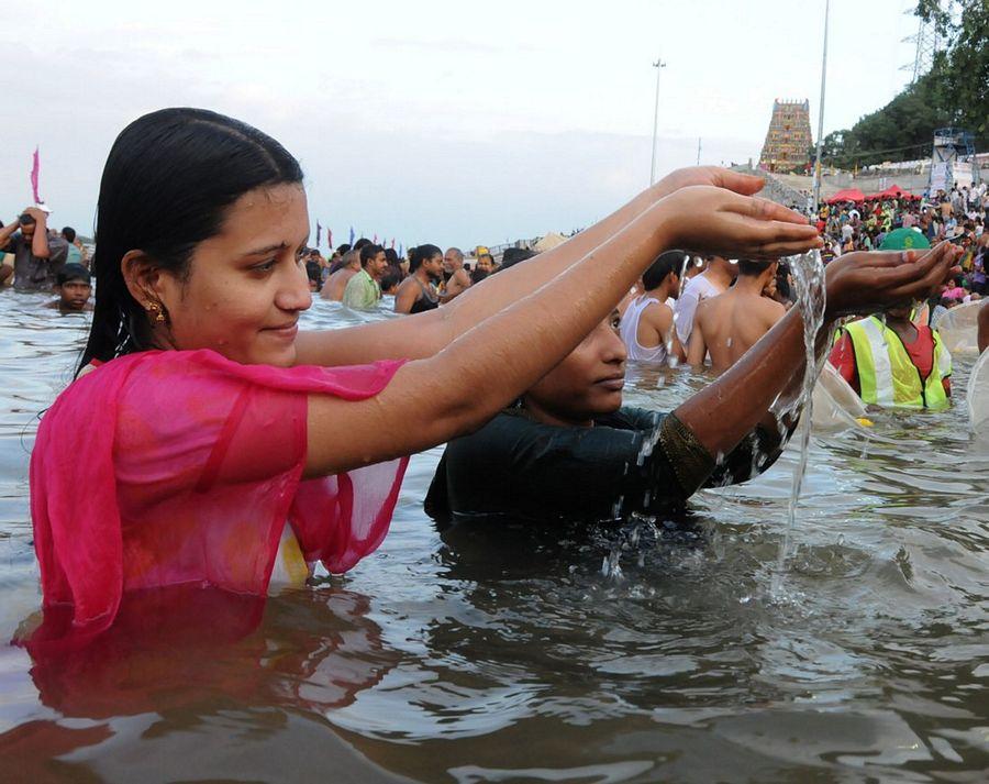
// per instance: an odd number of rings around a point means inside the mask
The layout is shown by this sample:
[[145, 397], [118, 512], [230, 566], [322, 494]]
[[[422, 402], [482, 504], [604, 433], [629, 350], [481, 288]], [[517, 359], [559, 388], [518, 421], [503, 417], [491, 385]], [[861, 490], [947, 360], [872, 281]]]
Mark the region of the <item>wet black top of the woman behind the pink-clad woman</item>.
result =
[[701, 485], [735, 484], [762, 473], [781, 451], [780, 439], [759, 428], [720, 464], [710, 459], [699, 474], [692, 466], [684, 471], [698, 444], [681, 449], [680, 442], [691, 437], [676, 417], [637, 408], [599, 417], [592, 428], [544, 424], [521, 409], [505, 410], [447, 444], [425, 510], [441, 521], [658, 514], [682, 506]]

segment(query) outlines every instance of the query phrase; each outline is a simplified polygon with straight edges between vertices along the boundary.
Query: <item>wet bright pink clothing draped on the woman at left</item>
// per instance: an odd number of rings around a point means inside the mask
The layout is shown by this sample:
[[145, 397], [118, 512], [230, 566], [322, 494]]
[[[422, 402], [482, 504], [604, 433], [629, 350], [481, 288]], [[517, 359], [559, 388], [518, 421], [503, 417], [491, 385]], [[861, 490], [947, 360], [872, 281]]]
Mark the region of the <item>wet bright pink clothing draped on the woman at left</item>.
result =
[[308, 396], [373, 397], [401, 364], [279, 368], [148, 351], [74, 382], [31, 456], [45, 620], [29, 648], [84, 644], [125, 590], [264, 595], [286, 521], [331, 572], [374, 552], [408, 459], [302, 481]]

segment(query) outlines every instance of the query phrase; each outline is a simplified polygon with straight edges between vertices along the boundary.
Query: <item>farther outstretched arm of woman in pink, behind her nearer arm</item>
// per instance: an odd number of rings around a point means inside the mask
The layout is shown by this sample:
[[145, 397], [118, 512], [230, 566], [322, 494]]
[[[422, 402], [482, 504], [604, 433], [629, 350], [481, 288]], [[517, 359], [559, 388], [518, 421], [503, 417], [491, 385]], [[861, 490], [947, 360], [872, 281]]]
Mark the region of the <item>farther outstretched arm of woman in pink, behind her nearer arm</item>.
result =
[[[467, 289], [438, 310], [344, 330], [301, 332], [296, 343], [297, 363], [330, 367], [432, 356], [475, 324], [569, 269], [660, 199], [694, 185], [713, 185], [751, 196], [763, 187], [763, 180], [714, 166], [679, 169], [563, 245], [489, 276], [484, 286]], [[659, 249], [657, 255], [663, 250], [667, 249]]]

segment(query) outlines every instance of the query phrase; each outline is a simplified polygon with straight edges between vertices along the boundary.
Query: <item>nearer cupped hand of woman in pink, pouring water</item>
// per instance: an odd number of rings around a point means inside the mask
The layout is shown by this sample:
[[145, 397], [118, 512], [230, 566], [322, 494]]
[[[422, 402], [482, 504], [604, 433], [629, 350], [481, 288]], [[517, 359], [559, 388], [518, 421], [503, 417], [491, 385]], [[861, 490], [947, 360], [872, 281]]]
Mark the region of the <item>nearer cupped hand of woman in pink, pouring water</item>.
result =
[[823, 244], [803, 216], [720, 186], [679, 188], [648, 214], [657, 220], [667, 247], [690, 252], [779, 258]]

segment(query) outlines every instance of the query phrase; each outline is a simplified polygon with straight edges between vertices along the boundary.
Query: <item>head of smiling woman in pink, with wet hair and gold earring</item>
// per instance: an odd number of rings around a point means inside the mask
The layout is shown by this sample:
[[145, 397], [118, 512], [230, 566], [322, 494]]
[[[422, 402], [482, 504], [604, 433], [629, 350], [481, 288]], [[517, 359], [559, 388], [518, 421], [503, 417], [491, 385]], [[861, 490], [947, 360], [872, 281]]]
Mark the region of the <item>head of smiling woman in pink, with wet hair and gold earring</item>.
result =
[[274, 139], [202, 109], [135, 120], [100, 181], [81, 366], [148, 349], [291, 365], [308, 236], [302, 169]]

